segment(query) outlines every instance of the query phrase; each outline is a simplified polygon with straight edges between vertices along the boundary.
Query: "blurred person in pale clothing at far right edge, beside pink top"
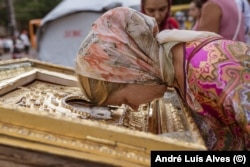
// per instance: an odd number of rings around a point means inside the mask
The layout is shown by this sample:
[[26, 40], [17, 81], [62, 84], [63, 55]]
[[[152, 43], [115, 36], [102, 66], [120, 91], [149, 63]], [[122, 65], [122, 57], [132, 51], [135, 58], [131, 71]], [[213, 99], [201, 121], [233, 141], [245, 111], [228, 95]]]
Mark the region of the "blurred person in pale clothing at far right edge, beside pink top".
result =
[[246, 43], [250, 44], [250, 0], [235, 0], [245, 19]]

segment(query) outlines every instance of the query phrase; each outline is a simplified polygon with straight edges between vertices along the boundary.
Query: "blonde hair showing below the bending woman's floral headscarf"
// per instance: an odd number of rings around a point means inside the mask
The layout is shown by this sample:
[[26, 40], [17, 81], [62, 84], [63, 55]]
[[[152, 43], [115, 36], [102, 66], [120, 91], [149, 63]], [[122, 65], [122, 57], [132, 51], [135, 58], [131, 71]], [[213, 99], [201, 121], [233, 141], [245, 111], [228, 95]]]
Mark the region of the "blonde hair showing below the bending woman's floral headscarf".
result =
[[127, 86], [126, 83], [114, 83], [77, 75], [84, 95], [93, 105], [103, 105], [114, 92]]

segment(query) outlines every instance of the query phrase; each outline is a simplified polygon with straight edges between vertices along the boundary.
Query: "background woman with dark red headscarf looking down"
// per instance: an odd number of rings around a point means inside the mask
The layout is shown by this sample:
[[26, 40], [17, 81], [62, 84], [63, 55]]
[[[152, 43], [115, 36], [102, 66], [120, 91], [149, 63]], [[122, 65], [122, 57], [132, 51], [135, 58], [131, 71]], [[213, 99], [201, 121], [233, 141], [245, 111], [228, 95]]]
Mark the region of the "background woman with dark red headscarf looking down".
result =
[[171, 17], [171, 0], [141, 0], [141, 12], [154, 17], [159, 30], [179, 29], [179, 23]]

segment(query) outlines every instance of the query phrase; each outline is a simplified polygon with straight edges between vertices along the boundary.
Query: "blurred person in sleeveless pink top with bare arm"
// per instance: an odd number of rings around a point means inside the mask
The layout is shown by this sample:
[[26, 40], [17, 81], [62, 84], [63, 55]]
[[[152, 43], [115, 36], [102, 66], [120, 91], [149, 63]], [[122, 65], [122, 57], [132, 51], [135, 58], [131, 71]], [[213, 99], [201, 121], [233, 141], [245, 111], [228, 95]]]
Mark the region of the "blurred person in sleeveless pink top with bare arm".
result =
[[225, 39], [246, 42], [244, 17], [235, 0], [201, 0], [197, 30], [220, 34]]

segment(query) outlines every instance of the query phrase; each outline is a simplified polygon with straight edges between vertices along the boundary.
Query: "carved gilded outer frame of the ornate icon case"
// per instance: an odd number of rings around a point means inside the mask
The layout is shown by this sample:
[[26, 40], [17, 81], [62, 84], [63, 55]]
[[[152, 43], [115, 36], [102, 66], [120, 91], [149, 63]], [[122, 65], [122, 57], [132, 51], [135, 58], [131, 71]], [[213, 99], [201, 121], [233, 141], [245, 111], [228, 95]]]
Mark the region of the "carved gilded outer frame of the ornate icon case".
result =
[[[25, 63], [30, 66], [22, 68], [21, 72], [11, 67]], [[78, 85], [72, 68], [26, 58], [1, 62], [0, 78], [0, 97], [36, 79]], [[153, 105], [157, 110], [154, 119], [162, 119], [164, 101], [159, 99]], [[151, 150], [206, 150], [189, 111], [185, 106], [182, 108], [187, 129], [195, 142], [0, 104], [0, 144], [112, 165], [149, 166]], [[166, 122], [161, 120], [159, 124], [164, 130]]]

